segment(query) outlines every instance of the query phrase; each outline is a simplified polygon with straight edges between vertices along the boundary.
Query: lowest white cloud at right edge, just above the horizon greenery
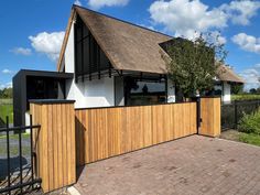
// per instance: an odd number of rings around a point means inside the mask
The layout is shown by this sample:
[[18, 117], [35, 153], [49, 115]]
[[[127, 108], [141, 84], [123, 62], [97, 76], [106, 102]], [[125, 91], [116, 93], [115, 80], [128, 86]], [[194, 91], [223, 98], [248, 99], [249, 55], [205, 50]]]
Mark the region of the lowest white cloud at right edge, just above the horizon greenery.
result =
[[260, 69], [258, 69], [257, 66], [258, 65], [252, 68], [245, 69], [239, 74], [246, 80], [245, 89], [247, 90], [260, 87]]

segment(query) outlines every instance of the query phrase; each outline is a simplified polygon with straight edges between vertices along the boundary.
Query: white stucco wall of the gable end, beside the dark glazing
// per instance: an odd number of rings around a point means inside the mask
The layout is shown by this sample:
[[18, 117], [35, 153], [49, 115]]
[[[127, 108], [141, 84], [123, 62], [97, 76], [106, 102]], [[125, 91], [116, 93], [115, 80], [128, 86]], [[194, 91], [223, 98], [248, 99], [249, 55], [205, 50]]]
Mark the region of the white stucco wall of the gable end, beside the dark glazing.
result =
[[[74, 28], [64, 55], [65, 72], [74, 73]], [[66, 82], [66, 99], [74, 99], [75, 108], [108, 107], [115, 105], [113, 77], [75, 83]]]

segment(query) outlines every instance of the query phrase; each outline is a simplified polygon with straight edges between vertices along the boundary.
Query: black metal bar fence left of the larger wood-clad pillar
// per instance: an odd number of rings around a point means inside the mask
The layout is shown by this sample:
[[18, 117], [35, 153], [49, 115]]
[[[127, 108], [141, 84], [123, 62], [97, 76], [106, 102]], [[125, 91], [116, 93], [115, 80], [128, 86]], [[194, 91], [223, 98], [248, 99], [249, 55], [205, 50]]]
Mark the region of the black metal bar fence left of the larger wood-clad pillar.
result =
[[[33, 149], [33, 137], [32, 132], [34, 130], [40, 130], [41, 126], [32, 124], [32, 116], [30, 116], [30, 126], [24, 127], [9, 127], [9, 117], [6, 120], [6, 128], [0, 128], [0, 132], [6, 132], [6, 136], [2, 136], [1, 142], [6, 144], [6, 150], [3, 144], [0, 144], [1, 151], [4, 151], [6, 158], [0, 155], [0, 166], [1, 166], [1, 177], [0, 177], [0, 194], [25, 194], [32, 189], [39, 188], [41, 184], [41, 178], [35, 178], [34, 169], [36, 165], [36, 156]], [[30, 130], [30, 133], [24, 136], [24, 131]], [[12, 134], [15, 132], [14, 134]], [[28, 138], [29, 147], [26, 155], [30, 155], [28, 159], [23, 156], [24, 152], [24, 138]], [[15, 138], [15, 139], [13, 139]], [[3, 139], [6, 140], [3, 142]], [[15, 142], [15, 143], [13, 143]], [[13, 155], [13, 144], [17, 145], [17, 156]], [[25, 161], [25, 163], [24, 163]], [[24, 164], [26, 166], [24, 167]], [[4, 167], [3, 167], [4, 166]]]

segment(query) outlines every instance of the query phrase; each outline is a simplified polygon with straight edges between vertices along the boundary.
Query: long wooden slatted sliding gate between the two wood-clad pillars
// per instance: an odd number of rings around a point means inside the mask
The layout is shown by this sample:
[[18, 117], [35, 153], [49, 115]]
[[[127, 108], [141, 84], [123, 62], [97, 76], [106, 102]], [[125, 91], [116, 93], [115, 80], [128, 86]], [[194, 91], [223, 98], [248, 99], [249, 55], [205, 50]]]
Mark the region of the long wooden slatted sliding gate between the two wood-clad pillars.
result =
[[197, 133], [196, 102], [75, 112], [77, 165]]

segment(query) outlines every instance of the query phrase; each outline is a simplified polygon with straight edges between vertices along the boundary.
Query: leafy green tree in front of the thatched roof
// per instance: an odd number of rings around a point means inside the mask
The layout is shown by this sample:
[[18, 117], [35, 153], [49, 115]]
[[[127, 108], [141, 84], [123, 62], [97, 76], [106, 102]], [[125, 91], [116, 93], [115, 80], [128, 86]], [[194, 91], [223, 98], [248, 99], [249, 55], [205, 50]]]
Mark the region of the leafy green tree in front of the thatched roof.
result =
[[213, 40], [212, 34], [201, 34], [194, 41], [178, 37], [166, 45], [171, 58], [166, 63], [169, 78], [182, 90], [185, 98], [214, 87], [214, 79], [227, 52], [224, 44], [219, 44], [218, 37]]

